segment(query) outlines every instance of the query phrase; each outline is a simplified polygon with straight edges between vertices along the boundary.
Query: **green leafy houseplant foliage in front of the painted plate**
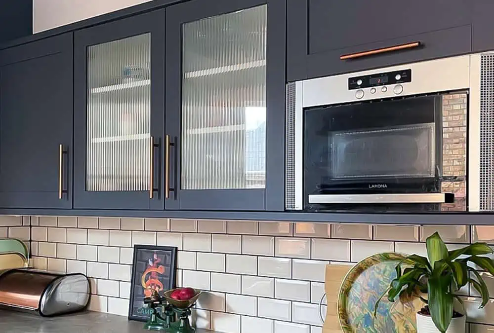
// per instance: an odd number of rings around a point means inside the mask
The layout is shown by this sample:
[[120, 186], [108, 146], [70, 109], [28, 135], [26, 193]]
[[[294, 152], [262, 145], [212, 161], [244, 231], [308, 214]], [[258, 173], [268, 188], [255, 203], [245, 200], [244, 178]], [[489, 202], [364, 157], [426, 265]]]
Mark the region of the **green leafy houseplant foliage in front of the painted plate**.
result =
[[[482, 276], [468, 262], [474, 263], [494, 275], [494, 261], [480, 257], [493, 253], [486, 243], [475, 243], [462, 249], [448, 251], [443, 240], [436, 232], [426, 240], [427, 257], [412, 255], [396, 266], [396, 278], [391, 281], [388, 290], [377, 300], [374, 316], [382, 297], [394, 302], [397, 297], [418, 295], [430, 311], [436, 328], [445, 333], [453, 318], [453, 302], [457, 291], [470, 284], [482, 296], [483, 308], [489, 301], [489, 290]], [[404, 268], [405, 266], [405, 268]], [[472, 278], [472, 275], [475, 279]], [[427, 294], [427, 298], [420, 293]]]

